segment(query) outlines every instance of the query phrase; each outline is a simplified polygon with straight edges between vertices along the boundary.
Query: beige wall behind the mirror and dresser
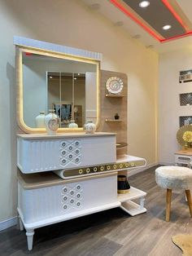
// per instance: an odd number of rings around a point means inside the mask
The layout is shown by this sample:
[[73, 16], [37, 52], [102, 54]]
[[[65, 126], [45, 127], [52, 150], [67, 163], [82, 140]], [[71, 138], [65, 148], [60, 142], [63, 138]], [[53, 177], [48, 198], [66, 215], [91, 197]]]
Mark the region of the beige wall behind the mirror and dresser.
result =
[[155, 159], [158, 55], [81, 1], [0, 0], [0, 222], [16, 214], [14, 35], [103, 53], [102, 67], [127, 73], [129, 153]]

